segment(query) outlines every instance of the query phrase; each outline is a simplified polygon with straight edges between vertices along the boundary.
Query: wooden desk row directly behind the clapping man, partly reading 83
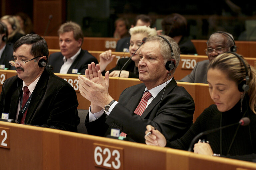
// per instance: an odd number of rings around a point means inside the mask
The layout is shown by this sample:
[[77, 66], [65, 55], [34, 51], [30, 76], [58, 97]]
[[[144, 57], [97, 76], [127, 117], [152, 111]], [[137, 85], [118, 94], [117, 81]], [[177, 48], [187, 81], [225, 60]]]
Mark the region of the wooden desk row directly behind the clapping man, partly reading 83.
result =
[[[77, 74], [60, 74], [55, 73], [55, 75], [65, 79], [69, 82], [76, 91], [78, 99], [78, 109], [88, 110], [91, 105], [90, 101], [85, 99], [79, 92], [78, 86], [78, 75]], [[0, 70], [0, 92], [2, 91], [3, 82], [9, 78], [15, 76], [14, 70]], [[139, 79], [134, 78], [117, 78], [110, 77], [109, 80], [109, 94], [114, 100], [118, 100], [121, 92], [130, 86], [142, 83]], [[177, 82], [178, 86], [183, 86], [189, 94], [192, 96], [195, 102], [195, 112], [194, 112], [194, 121], [196, 118], [203, 112], [205, 108], [214, 104], [210, 98], [208, 92], [208, 84], [201, 83], [185, 83]]]

